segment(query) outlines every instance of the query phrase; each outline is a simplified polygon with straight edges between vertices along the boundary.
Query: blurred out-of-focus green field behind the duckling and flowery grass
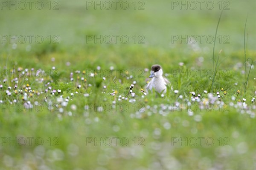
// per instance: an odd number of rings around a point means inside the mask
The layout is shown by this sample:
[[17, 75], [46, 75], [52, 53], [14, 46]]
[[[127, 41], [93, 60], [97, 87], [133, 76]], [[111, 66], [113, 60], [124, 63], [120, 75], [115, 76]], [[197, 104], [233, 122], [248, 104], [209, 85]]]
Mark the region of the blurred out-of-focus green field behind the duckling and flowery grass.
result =
[[[9, 54], [12, 54], [12, 58], [15, 58], [20, 52], [23, 52], [23, 57], [33, 56], [32, 61], [37, 60], [45, 64], [49, 61], [48, 55], [44, 55], [45, 52], [62, 52], [64, 55], [61, 56], [61, 62], [64, 63], [68, 60], [72, 65], [84, 66], [85, 64], [86, 66], [88, 62], [92, 62], [88, 58], [91, 53], [94, 53], [93, 61], [100, 59], [104, 64], [118, 63], [122, 66], [128, 64], [125, 67], [134, 66], [135, 68], [150, 67], [152, 63], [163, 59], [165, 62], [161, 64], [167, 69], [173, 68], [173, 65], [179, 62], [175, 60], [177, 57], [191, 63], [193, 60], [190, 56], [201, 55], [205, 58], [204, 64], [207, 68], [208, 63], [212, 63], [213, 41], [211, 37], [215, 35], [218, 17], [221, 13], [220, 6], [227, 10], [223, 12], [218, 29], [215, 46], [217, 53], [223, 49], [223, 58], [228, 57], [227, 60], [239, 59], [238, 61], [242, 61], [244, 25], [247, 14], [247, 52], [250, 54], [251, 51], [255, 51], [254, 1], [209, 1], [210, 3], [204, 1], [202, 7], [197, 1], [195, 1], [196, 3], [167, 0], [127, 1], [129, 7], [126, 10], [122, 9], [126, 4], [122, 1], [116, 3], [116, 10], [115, 3], [112, 1], [109, 1], [112, 6], [110, 10], [106, 10], [108, 3], [105, 1], [43, 2], [44, 7], [41, 10], [37, 9], [41, 3], [36, 3], [36, 1], [32, 3], [31, 10], [28, 3], [26, 3], [25, 10], [19, 10], [19, 3], [17, 3], [17, 10], [13, 10], [14, 7], [10, 6], [11, 3], [8, 3], [9, 6], [2, 6], [1, 35], [25, 35], [26, 37], [34, 35], [34, 37], [32, 37], [31, 44], [28, 37], [26, 43], [18, 44], [18, 50], [12, 50], [12, 44], [3, 41], [1, 54], [5, 55], [5, 52], [8, 51]], [[93, 3], [92, 6], [88, 6], [91, 3]], [[96, 6], [96, 3], [102, 4], [102, 6]], [[181, 6], [181, 4], [187, 5]], [[193, 10], [193, 4], [197, 5], [195, 10]], [[211, 9], [212, 4], [213, 9]], [[22, 4], [20, 4], [20, 8], [22, 8]], [[56, 10], [53, 10], [55, 8]], [[141, 8], [143, 9], [139, 10]], [[37, 35], [43, 36], [42, 44], [36, 43]], [[54, 37], [55, 35], [57, 37]], [[99, 40], [96, 41], [96, 44], [93, 40], [87, 43], [86, 36], [88, 35], [96, 35], [98, 38], [101, 35], [102, 37], [110, 35], [113, 38], [113, 43], [107, 44], [103, 41], [101, 44]], [[116, 43], [114, 43], [113, 35], [119, 35]], [[121, 42], [122, 35], [128, 36], [127, 44]], [[139, 37], [140, 35], [142, 37]], [[185, 40], [180, 43], [180, 36], [184, 38], [193, 35], [198, 38], [194, 46]], [[199, 37], [201, 35], [204, 36], [202, 41]], [[52, 38], [51, 43], [49, 43], [49, 36]], [[178, 36], [179, 39], [175, 40], [174, 36]], [[208, 40], [207, 36], [210, 36]], [[53, 44], [54, 40], [57, 40], [59, 44]], [[144, 44], [140, 44], [140, 40]], [[26, 52], [26, 46], [29, 44], [31, 50]], [[17, 51], [19, 52], [16, 53]], [[241, 58], [236, 55], [238, 52], [241, 52]], [[116, 61], [114, 53], [118, 54], [119, 61]], [[255, 57], [254, 54], [252, 53], [250, 57]], [[76, 60], [70, 60], [70, 57], [74, 56], [77, 57]]]

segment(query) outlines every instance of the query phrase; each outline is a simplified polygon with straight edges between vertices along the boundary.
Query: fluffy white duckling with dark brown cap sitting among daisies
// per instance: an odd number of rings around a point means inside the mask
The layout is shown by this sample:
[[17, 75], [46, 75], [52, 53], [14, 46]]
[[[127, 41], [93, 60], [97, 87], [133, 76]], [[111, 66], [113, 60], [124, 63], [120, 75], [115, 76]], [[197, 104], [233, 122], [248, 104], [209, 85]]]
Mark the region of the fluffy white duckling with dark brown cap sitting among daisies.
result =
[[151, 75], [149, 78], [152, 80], [148, 83], [146, 90], [151, 90], [154, 88], [159, 93], [166, 93], [166, 85], [170, 82], [163, 77], [163, 69], [159, 65], [153, 65], [151, 67]]

